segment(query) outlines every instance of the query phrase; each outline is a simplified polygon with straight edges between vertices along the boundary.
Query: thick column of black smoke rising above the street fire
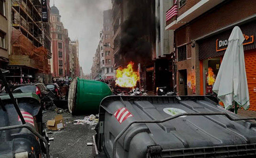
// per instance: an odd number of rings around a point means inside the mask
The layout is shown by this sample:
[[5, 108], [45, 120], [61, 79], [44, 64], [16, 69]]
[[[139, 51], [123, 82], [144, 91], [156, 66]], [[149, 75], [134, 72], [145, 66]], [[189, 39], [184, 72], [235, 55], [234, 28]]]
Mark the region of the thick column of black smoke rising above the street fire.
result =
[[129, 16], [122, 25], [120, 54], [125, 64], [147, 64], [152, 61], [155, 43], [155, 0], [129, 0], [124, 4], [124, 12]]

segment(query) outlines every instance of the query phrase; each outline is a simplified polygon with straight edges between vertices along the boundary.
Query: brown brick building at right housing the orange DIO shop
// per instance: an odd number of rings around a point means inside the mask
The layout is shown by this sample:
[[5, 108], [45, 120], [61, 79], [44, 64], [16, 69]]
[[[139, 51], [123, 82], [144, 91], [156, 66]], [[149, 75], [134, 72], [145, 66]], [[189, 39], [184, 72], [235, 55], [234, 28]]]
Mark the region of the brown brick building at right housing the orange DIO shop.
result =
[[[250, 0], [179, 0], [178, 13], [166, 22], [175, 30], [179, 95], [211, 94], [228, 38], [234, 26], [244, 34], [245, 67], [250, 95], [250, 110], [256, 110], [256, 2]], [[241, 7], [243, 6], [243, 7]]]

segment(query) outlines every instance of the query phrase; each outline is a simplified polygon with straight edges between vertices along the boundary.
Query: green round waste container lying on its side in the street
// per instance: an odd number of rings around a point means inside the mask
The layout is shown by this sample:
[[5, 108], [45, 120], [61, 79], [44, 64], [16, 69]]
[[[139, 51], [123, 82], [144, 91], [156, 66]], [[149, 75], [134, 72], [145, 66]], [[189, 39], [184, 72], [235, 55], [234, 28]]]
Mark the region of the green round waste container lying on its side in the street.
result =
[[111, 89], [103, 82], [74, 78], [68, 93], [68, 110], [72, 115], [98, 113], [100, 102], [110, 95]]

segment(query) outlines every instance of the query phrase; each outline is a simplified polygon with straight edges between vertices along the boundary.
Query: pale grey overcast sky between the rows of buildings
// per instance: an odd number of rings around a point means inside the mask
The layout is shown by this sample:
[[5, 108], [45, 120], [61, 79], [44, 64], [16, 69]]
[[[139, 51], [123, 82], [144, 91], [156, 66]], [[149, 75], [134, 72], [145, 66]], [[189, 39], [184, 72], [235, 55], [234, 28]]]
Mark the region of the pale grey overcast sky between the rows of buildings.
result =
[[[50, 0], [53, 6], [53, 0]], [[71, 40], [79, 40], [79, 62], [84, 73], [90, 73], [92, 57], [100, 41], [103, 11], [111, 9], [111, 0], [55, 0], [61, 21]]]

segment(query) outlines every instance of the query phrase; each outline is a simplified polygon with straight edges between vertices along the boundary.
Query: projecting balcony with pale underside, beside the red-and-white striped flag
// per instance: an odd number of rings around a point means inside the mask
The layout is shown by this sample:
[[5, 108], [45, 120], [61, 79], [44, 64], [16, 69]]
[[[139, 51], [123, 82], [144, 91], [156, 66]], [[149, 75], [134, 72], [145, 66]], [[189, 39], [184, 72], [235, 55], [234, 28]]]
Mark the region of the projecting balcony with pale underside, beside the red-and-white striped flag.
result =
[[184, 24], [192, 21], [193, 19], [205, 13], [206, 11], [214, 8], [221, 2], [224, 2], [224, 0], [201, 0], [181, 15], [179, 15], [178, 9], [179, 16], [177, 18], [174, 17], [175, 19], [170, 19], [169, 21], [167, 21], [165, 30], [175, 30], [183, 26]]

